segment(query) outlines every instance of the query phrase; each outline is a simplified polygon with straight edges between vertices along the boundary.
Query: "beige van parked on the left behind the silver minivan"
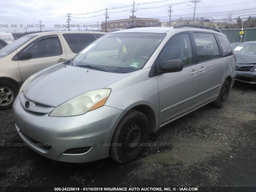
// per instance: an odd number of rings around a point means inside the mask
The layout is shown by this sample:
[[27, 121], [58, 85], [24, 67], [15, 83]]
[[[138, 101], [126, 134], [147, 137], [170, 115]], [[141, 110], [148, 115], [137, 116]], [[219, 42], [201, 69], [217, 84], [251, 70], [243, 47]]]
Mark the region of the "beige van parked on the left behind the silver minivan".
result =
[[20, 85], [32, 74], [74, 57], [104, 32], [42, 32], [0, 50], [0, 110], [12, 107]]

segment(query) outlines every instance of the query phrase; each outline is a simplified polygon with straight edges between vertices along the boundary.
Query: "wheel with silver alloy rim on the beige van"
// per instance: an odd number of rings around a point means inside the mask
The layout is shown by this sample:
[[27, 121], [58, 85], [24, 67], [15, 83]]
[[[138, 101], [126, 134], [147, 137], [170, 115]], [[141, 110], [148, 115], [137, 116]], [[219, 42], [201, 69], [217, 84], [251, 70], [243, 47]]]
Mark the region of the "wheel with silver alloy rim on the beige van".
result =
[[18, 87], [10, 81], [0, 80], [0, 110], [12, 107]]

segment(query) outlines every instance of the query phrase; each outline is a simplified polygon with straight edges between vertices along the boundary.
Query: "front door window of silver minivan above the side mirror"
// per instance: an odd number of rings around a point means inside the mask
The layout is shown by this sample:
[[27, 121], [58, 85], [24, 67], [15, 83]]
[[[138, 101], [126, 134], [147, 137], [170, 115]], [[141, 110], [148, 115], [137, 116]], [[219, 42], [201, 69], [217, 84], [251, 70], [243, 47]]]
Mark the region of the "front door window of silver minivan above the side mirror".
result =
[[172, 59], [181, 60], [183, 66], [193, 64], [192, 47], [188, 34], [181, 34], [172, 38], [160, 54], [161, 65], [166, 60]]

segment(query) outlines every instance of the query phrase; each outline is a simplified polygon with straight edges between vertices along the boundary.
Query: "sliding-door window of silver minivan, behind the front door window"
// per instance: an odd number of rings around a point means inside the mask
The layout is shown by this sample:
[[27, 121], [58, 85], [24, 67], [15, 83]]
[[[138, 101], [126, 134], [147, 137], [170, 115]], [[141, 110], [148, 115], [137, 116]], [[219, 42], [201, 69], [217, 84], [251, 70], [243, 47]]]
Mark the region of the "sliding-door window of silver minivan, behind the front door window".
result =
[[198, 62], [220, 57], [219, 48], [213, 34], [194, 33]]

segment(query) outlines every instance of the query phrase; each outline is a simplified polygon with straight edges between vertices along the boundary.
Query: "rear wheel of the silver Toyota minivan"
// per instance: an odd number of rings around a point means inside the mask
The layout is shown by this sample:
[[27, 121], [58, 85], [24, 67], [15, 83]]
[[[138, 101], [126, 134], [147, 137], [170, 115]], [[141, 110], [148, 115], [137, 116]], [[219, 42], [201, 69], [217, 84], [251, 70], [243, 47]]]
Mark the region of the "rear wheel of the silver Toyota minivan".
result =
[[225, 80], [220, 89], [219, 96], [218, 96], [217, 100], [212, 102], [212, 106], [214, 106], [216, 108], [223, 108], [226, 105], [226, 102], [228, 101], [229, 91], [230, 91], [229, 82], [227, 80]]

